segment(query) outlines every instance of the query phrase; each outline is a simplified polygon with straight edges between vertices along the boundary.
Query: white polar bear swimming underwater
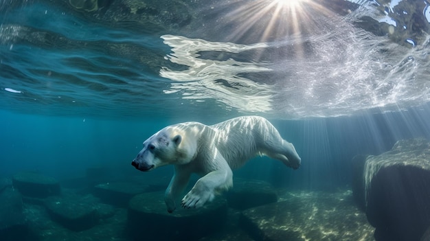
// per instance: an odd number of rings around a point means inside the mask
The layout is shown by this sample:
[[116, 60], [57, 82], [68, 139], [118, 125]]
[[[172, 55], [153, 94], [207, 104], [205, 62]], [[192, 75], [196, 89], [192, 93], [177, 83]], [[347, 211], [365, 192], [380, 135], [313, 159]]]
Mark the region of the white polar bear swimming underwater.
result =
[[233, 185], [232, 169], [256, 155], [267, 155], [297, 169], [301, 159], [293, 144], [282, 139], [278, 130], [263, 117], [244, 116], [206, 126], [199, 122], [174, 124], [144, 141], [143, 149], [131, 162], [137, 170], [150, 171], [174, 165], [165, 202], [169, 213], [192, 173], [201, 175], [181, 205], [202, 207]]

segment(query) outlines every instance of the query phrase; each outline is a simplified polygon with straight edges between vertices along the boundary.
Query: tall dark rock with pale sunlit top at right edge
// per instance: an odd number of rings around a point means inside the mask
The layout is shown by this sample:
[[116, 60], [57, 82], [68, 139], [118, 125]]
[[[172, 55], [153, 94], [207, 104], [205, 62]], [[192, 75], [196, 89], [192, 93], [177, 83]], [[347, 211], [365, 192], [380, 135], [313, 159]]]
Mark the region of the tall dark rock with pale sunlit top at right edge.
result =
[[397, 141], [365, 160], [366, 215], [376, 240], [420, 240], [430, 226], [430, 142]]

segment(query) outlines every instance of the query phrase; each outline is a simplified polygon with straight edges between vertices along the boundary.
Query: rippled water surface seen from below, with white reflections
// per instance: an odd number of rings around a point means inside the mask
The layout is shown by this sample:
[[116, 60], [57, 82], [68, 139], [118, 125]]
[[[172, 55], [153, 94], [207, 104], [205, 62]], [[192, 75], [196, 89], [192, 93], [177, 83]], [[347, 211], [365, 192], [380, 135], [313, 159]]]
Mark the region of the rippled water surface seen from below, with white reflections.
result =
[[427, 1], [1, 1], [0, 108], [280, 119], [429, 101]]

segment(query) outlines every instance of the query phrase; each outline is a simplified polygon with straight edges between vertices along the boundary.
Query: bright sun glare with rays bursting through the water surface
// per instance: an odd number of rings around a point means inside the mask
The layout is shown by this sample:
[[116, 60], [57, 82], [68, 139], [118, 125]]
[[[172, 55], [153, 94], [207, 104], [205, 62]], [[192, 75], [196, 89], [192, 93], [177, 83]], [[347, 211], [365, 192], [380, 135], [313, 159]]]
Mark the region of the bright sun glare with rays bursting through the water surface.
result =
[[247, 1], [227, 12], [225, 19], [240, 23], [231, 32], [231, 41], [260, 43], [280, 41], [286, 36], [302, 36], [315, 30], [316, 15], [328, 10], [313, 0], [256, 0]]

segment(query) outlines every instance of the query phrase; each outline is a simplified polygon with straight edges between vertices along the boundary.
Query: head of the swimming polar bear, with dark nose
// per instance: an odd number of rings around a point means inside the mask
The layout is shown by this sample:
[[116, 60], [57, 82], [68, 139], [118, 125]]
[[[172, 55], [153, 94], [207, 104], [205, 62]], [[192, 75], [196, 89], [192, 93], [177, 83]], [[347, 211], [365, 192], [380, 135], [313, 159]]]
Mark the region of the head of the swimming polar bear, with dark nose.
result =
[[196, 140], [183, 126], [168, 126], [144, 141], [144, 148], [131, 162], [137, 170], [149, 171], [163, 165], [189, 163], [196, 153]]

